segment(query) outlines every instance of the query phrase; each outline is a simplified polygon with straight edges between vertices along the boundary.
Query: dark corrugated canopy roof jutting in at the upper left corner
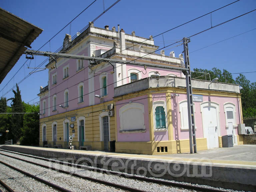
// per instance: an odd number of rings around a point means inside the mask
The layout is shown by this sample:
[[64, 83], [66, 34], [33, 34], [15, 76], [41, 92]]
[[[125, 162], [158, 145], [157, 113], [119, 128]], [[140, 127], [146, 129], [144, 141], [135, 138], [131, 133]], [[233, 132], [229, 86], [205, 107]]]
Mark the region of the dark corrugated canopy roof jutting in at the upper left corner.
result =
[[27, 47], [42, 33], [39, 27], [0, 8], [0, 83]]

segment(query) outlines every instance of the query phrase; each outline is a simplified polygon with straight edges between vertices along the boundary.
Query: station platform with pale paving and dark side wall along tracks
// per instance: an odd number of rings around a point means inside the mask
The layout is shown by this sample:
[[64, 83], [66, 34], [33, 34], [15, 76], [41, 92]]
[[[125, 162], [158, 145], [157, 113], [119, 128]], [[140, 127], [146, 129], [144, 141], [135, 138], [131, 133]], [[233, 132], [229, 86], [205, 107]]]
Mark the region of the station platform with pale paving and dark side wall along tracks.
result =
[[256, 191], [256, 145], [215, 148], [195, 154], [139, 155], [6, 145], [0, 148], [47, 158], [169, 180]]

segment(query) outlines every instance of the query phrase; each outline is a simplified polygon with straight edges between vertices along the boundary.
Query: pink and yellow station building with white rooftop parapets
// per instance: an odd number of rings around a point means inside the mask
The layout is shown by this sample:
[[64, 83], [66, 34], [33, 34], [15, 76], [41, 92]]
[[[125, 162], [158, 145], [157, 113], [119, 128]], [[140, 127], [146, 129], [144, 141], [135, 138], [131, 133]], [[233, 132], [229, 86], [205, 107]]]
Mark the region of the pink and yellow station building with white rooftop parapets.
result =
[[[48, 85], [40, 93], [40, 146], [69, 146], [140, 154], [189, 152], [188, 111], [185, 76], [180, 70], [136, 65], [182, 67], [183, 56], [174, 52], [152, 53], [154, 40], [97, 28], [93, 23], [71, 39], [66, 34], [61, 52], [108, 57], [127, 63], [101, 62], [91, 65], [82, 59], [49, 60]], [[150, 54], [149, 54], [150, 53]], [[156, 74], [160, 77], [156, 78]], [[192, 80], [196, 142], [198, 150], [222, 147], [222, 136], [237, 133], [242, 123], [239, 86]]]

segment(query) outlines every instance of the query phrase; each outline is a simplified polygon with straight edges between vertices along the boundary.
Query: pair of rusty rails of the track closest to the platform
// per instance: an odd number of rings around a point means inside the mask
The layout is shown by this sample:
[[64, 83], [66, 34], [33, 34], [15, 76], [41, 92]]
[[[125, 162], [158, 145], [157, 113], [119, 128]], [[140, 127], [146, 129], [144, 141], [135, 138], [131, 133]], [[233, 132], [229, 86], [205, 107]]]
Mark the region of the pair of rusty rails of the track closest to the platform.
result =
[[[58, 163], [58, 164], [66, 165], [66, 166], [69, 166], [69, 167], [74, 167], [75, 166], [76, 168], [80, 168], [80, 169], [85, 169], [86, 168], [86, 166], [84, 166], [84, 165], [78, 165], [78, 164], [72, 164], [72, 163], [69, 163], [69, 162], [56, 161], [56, 160], [46, 159], [46, 158], [42, 158], [42, 157], [35, 157], [35, 156], [32, 156], [32, 155], [21, 154], [21, 153], [17, 153], [17, 152], [13, 152], [13, 151], [7, 151], [7, 150], [1, 150], [1, 151], [16, 154], [16, 155], [26, 156], [26, 157], [29, 157], [29, 158], [39, 159], [39, 160], [43, 160], [43, 161], [47, 161], [47, 162], [51, 162], [51, 163]], [[115, 187], [115, 188], [118, 188], [118, 189], [122, 189], [122, 190], [125, 190], [125, 191], [144, 192], [144, 190], [139, 190], [139, 189], [123, 186], [123, 185], [117, 185], [115, 183], [106, 182], [104, 180], [95, 179], [95, 178], [92, 178], [92, 177], [86, 177], [86, 176], [79, 175], [79, 174], [76, 174], [76, 173], [72, 173], [72, 172], [69, 172], [69, 171], [56, 169], [56, 168], [51, 167], [51, 166], [42, 165], [42, 164], [39, 164], [39, 163], [34, 163], [32, 161], [24, 160], [24, 159], [21, 159], [21, 158], [18, 158], [18, 157], [13, 157], [11, 155], [7, 155], [7, 154], [3, 154], [3, 153], [0, 153], [0, 154], [5, 155], [5, 156], [10, 157], [10, 158], [20, 160], [20, 161], [24, 161], [24, 162], [27, 162], [27, 163], [32, 163], [34, 165], [41, 166], [41, 167], [44, 167], [44, 168], [47, 168], [47, 169], [55, 170], [55, 171], [58, 171], [60, 173], [65, 173], [65, 174], [69, 174], [69, 175], [71, 174], [72, 176], [75, 176], [75, 177], [78, 177], [78, 178], [90, 180], [90, 181], [93, 181], [93, 182], [108, 185], [108, 186]], [[87, 168], [87, 170], [92, 170], [92, 169]], [[99, 169], [99, 168], [93, 168], [93, 171], [104, 173], [104, 174], [112, 174], [112, 175], [117, 174], [117, 172], [113, 172], [113, 171], [110, 171], [110, 170], [102, 170], [102, 169]], [[148, 182], [148, 183], [155, 183], [155, 184], [164, 185], [164, 186], [168, 186], [168, 187], [176, 187], [176, 188], [179, 188], [179, 189], [187, 189], [187, 190], [191, 190], [191, 191], [209, 191], [209, 192], [224, 192], [225, 191], [225, 190], [219, 190], [219, 189], [205, 188], [205, 187], [200, 187], [200, 186], [186, 185], [186, 184], [181, 184], [181, 183], [175, 183], [175, 182], [163, 181], [163, 180], [158, 180], [158, 179], [140, 177], [140, 176], [136, 176], [136, 175], [131, 176], [131, 175], [128, 175], [128, 174], [125, 174], [125, 173], [118, 173], [118, 176], [133, 179], [133, 180]]]

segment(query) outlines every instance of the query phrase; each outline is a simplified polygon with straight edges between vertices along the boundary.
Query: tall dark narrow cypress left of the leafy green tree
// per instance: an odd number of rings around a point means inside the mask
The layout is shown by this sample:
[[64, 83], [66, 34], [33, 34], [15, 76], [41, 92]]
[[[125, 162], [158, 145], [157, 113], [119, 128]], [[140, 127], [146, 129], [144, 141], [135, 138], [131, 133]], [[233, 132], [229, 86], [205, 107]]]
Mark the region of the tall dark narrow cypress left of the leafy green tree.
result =
[[[23, 113], [24, 107], [21, 100], [21, 94], [19, 87], [16, 83], [16, 91], [12, 90], [14, 93], [14, 97], [8, 100], [12, 100], [11, 108], [12, 113]], [[13, 140], [13, 143], [19, 141], [21, 136], [21, 128], [23, 127], [23, 114], [12, 114], [12, 118], [10, 119], [10, 129], [9, 129], [9, 137]]]

